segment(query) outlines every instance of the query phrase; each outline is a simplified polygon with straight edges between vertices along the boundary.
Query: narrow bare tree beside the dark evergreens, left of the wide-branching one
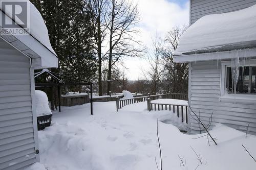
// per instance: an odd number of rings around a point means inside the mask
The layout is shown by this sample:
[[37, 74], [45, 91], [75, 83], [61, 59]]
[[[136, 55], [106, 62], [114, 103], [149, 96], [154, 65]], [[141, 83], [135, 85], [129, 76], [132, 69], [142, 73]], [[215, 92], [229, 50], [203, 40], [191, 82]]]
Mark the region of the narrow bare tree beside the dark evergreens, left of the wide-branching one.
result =
[[92, 23], [95, 28], [93, 36], [96, 43], [96, 51], [98, 54], [98, 88], [99, 95], [102, 95], [102, 62], [104, 56], [102, 56], [102, 42], [105, 40], [106, 29], [104, 25], [105, 16], [106, 16], [106, 7], [108, 0], [90, 0], [90, 10], [92, 12]]

